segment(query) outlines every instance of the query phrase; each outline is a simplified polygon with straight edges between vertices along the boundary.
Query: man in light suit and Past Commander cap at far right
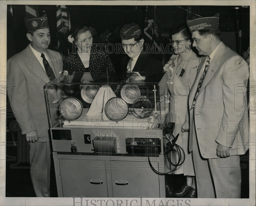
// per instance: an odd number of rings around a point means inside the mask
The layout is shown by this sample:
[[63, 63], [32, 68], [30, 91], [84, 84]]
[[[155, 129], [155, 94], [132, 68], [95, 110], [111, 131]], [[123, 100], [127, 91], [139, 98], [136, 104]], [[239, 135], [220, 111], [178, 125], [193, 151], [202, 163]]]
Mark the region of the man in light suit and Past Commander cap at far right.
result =
[[219, 14], [187, 20], [193, 46], [203, 55], [189, 95], [189, 150], [198, 198], [240, 198], [239, 155], [249, 142], [243, 98], [249, 70], [243, 58], [221, 41], [218, 22]]

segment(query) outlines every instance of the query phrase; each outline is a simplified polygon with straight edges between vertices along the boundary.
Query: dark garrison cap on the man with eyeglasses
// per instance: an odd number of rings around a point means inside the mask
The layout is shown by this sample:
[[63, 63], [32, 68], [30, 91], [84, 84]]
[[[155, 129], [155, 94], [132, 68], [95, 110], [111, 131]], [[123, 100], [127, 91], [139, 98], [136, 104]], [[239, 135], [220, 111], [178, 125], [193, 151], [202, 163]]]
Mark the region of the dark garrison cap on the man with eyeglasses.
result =
[[140, 27], [134, 22], [124, 25], [123, 28], [120, 30], [121, 40], [136, 38], [140, 34]]

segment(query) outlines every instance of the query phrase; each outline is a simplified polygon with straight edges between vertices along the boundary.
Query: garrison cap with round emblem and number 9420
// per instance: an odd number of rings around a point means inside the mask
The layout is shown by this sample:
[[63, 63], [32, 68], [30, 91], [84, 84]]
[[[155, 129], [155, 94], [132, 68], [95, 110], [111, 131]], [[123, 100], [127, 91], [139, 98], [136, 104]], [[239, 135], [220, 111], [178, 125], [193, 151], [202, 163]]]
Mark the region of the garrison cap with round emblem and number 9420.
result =
[[35, 31], [37, 29], [49, 28], [46, 14], [41, 17], [25, 18], [25, 25], [27, 31]]

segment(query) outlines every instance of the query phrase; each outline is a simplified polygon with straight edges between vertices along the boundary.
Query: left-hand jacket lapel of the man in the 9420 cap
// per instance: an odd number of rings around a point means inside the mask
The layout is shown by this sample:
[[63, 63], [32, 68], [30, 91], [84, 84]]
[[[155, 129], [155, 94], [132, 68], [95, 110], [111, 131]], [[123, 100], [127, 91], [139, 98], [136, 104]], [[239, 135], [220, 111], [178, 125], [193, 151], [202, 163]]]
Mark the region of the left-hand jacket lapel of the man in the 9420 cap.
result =
[[27, 52], [27, 59], [28, 59], [27, 62], [29, 65], [29, 69], [32, 72], [34, 72], [42, 81], [44, 81], [45, 83], [48, 83], [50, 81], [49, 77], [47, 76], [44, 68], [42, 68], [38, 59], [36, 58], [36, 56], [34, 55], [32, 50], [30, 49], [29, 45], [26, 48], [26, 52]]

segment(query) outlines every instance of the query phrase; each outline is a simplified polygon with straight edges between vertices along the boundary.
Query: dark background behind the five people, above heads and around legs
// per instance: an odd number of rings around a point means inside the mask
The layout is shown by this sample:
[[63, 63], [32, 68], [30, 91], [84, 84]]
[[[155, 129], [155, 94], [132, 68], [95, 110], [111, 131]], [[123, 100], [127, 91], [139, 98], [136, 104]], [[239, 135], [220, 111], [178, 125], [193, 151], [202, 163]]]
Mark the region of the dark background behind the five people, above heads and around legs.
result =
[[[199, 16], [213, 16], [220, 14], [220, 30], [223, 42], [231, 49], [238, 51], [237, 20], [239, 30], [242, 31], [241, 52], [247, 51], [250, 37], [249, 8], [232, 9], [235, 6], [193, 6], [193, 12]], [[24, 24], [25, 5], [12, 5], [13, 16], [7, 6], [7, 59], [26, 48], [29, 41], [26, 37]], [[97, 29], [99, 35], [106, 29], [110, 22], [116, 28], [121, 28], [126, 23], [136, 22], [144, 28], [146, 17], [145, 6], [94, 6], [94, 5], [67, 5], [70, 13], [71, 31], [75, 26], [84, 23]], [[168, 38], [169, 29], [178, 23], [185, 23], [187, 19], [187, 6], [158, 6], [159, 23], [162, 35]], [[47, 14], [51, 31], [51, 45], [49, 49], [58, 51], [56, 29], [56, 5], [38, 5], [39, 16]], [[236, 13], [237, 12], [237, 13]], [[97, 38], [94, 38], [94, 43]], [[97, 42], [98, 43], [98, 42]], [[121, 43], [121, 42], [120, 42]], [[241, 54], [240, 54], [241, 55]], [[8, 115], [7, 115], [8, 116]], [[7, 117], [8, 123], [14, 119]], [[17, 133], [6, 129], [6, 197], [34, 197], [34, 190], [29, 173], [29, 147], [24, 138]], [[22, 155], [22, 160], [20, 156]], [[249, 151], [241, 157], [242, 167], [242, 192], [241, 198], [249, 198]], [[51, 173], [51, 197], [57, 197], [54, 171]], [[184, 176], [173, 177], [174, 189], [184, 184]], [[175, 188], [176, 187], [176, 188]]]

